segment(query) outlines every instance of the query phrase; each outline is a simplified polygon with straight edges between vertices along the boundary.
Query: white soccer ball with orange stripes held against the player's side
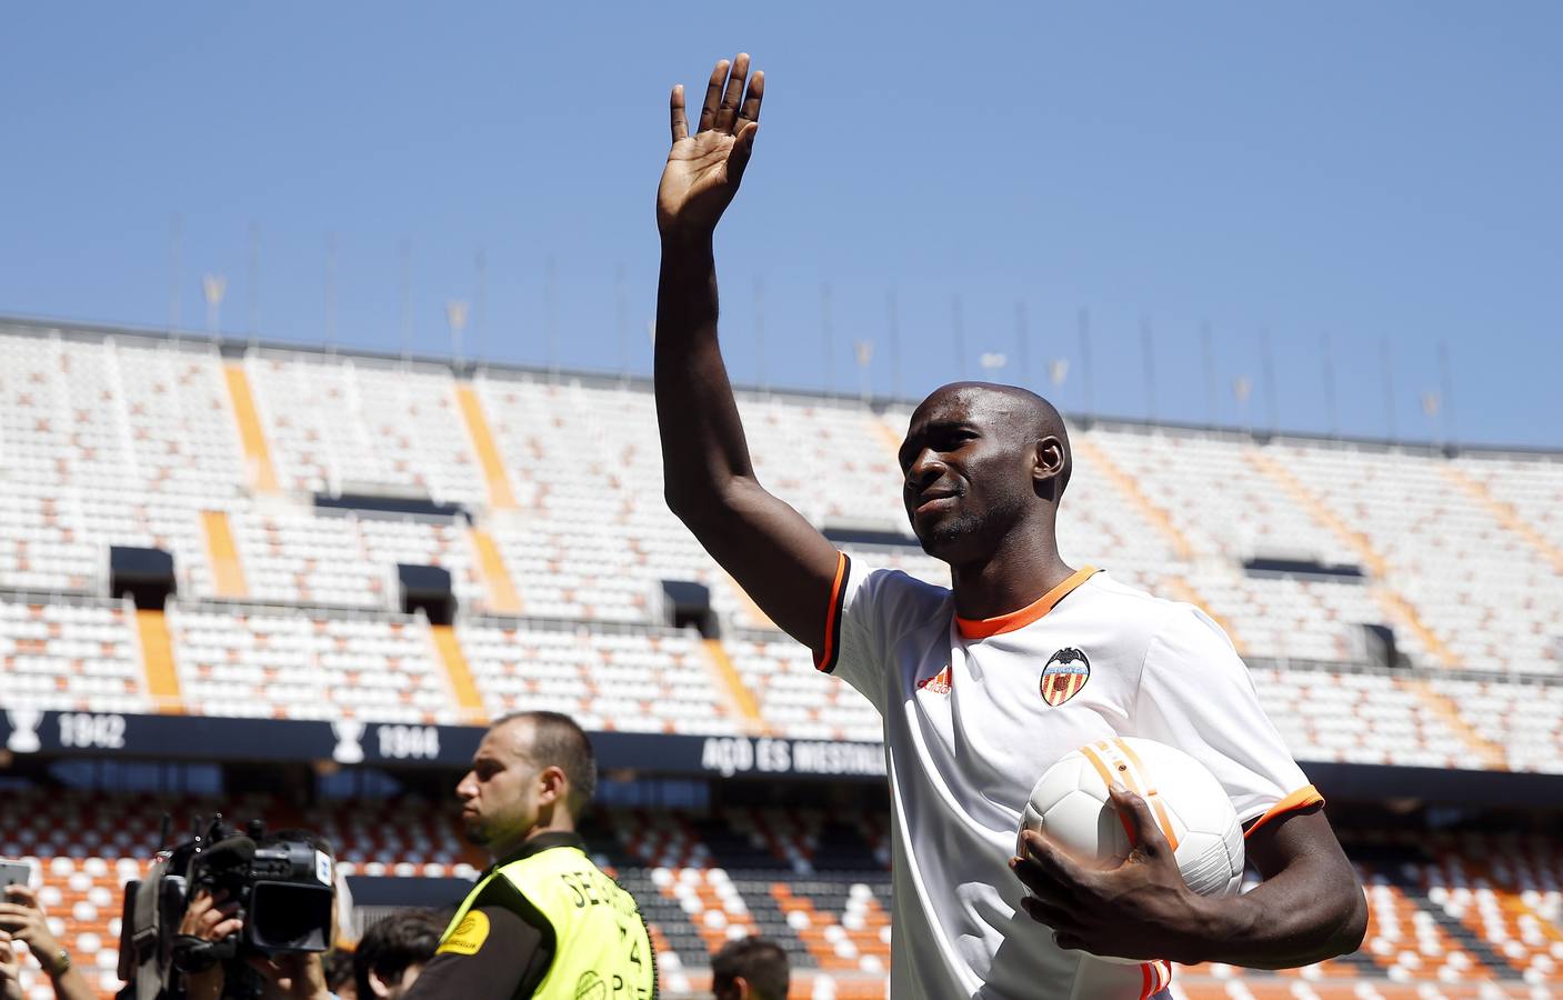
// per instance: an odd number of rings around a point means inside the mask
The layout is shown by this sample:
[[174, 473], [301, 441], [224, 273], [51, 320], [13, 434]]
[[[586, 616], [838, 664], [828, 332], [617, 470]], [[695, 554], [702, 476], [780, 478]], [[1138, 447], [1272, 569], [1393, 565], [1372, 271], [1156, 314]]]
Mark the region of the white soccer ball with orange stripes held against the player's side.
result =
[[[1032, 789], [1021, 831], [1046, 834], [1078, 861], [1116, 867], [1133, 845], [1128, 817], [1119, 817], [1107, 797], [1113, 778], [1150, 806], [1189, 889], [1200, 895], [1236, 894], [1243, 883], [1243, 828], [1232, 800], [1204, 764], [1153, 739], [1103, 739], [1064, 755]], [[1024, 856], [1021, 847], [1016, 853]]]

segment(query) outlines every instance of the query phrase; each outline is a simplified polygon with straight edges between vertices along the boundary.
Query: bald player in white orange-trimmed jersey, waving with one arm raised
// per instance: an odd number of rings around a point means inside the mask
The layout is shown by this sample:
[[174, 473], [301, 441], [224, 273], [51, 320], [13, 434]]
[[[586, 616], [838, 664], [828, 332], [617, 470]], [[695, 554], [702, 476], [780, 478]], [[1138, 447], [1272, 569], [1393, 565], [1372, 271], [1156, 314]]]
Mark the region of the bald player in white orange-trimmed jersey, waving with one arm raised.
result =
[[[1046, 400], [955, 383], [913, 414], [902, 500], [924, 550], [949, 562], [949, 589], [850, 561], [758, 483], [717, 345], [713, 252], [760, 128], [766, 83], [749, 69], [746, 55], [716, 64], [692, 134], [683, 89], [672, 92], [656, 192], [666, 497], [819, 669], [883, 716], [891, 995], [1147, 997], [1166, 988], [1163, 959], [1286, 967], [1355, 950], [1361, 886], [1221, 628], [1060, 558], [1069, 436]], [[1036, 778], [1116, 736], [1179, 747], [1221, 780], [1261, 886], [1189, 892], [1144, 802], [1124, 791], [1113, 803], [1138, 847], [1122, 866], [1088, 870], [1035, 834], [1011, 856]]]

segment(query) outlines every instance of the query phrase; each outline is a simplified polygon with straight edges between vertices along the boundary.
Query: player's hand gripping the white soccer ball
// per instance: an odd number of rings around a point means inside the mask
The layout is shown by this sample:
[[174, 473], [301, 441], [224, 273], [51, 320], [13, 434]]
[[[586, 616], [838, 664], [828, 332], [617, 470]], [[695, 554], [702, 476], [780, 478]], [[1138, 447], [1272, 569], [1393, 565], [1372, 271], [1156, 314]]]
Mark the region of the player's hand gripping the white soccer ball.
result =
[[1021, 856], [1010, 859], [1032, 895], [1021, 900], [1038, 923], [1053, 928], [1061, 948], [1118, 958], [1194, 958], [1204, 942], [1202, 919], [1211, 902], [1196, 895], [1179, 873], [1172, 845], [1144, 798], [1114, 788], [1113, 808], [1128, 820], [1135, 847], [1114, 869], [1097, 870], [1072, 859], [1043, 834], [1021, 836]]

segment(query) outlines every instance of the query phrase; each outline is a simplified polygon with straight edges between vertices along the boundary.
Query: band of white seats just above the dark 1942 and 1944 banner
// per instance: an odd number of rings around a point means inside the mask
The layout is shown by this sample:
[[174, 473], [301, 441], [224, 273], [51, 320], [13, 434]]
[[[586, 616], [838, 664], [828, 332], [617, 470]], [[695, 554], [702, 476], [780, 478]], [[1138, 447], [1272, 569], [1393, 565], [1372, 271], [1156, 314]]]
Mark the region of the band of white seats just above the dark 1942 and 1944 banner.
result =
[[[714, 642], [644, 625], [464, 619], [456, 648], [480, 705], [463, 711], [420, 616], [175, 600], [164, 620], [181, 706], [206, 716], [456, 723], [553, 709], [600, 731], [880, 739], [857, 691], [766, 631]], [[1563, 683], [1272, 661], [1250, 675], [1304, 761], [1563, 773]], [[0, 684], [8, 708], [153, 709], [125, 602], [0, 594]]]

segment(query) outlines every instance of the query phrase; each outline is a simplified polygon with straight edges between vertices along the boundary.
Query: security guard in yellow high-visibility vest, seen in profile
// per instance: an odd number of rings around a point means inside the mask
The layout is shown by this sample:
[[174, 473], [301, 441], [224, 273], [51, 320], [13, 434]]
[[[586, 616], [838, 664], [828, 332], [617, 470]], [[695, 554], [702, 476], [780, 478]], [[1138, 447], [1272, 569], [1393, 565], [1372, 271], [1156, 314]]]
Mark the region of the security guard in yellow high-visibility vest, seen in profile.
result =
[[406, 1000], [652, 1000], [656, 961], [635, 897], [586, 856], [575, 819], [597, 761], [558, 712], [506, 716], [461, 778], [467, 839], [495, 859]]

